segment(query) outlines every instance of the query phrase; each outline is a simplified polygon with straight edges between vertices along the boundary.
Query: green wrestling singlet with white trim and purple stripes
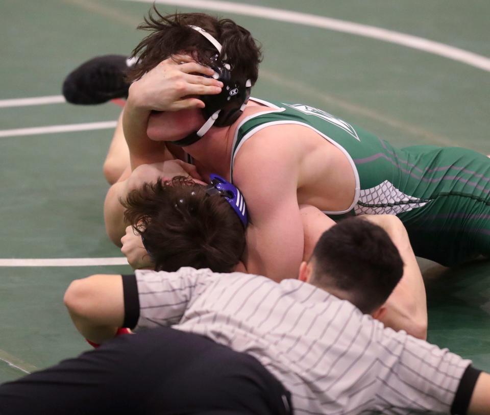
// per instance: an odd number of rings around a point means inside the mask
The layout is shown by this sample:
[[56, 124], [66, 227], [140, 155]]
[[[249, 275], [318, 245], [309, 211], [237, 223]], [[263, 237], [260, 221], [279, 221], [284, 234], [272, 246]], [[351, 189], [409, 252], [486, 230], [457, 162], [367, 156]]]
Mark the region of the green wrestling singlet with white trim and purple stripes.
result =
[[486, 156], [458, 147], [396, 149], [325, 111], [253, 100], [271, 107], [271, 112], [242, 122], [232, 160], [244, 141], [272, 123], [304, 125], [342, 150], [356, 177], [351, 207], [325, 213], [396, 214], [407, 228], [415, 255], [443, 265], [490, 255], [490, 159]]

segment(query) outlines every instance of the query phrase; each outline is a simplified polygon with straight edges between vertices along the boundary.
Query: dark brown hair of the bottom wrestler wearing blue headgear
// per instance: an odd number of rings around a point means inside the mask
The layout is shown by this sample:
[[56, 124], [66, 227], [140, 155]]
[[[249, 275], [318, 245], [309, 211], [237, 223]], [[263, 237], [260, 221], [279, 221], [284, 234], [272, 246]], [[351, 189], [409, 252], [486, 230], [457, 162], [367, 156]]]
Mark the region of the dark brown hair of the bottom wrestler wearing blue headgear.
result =
[[129, 193], [125, 218], [144, 238], [156, 271], [181, 266], [231, 272], [245, 248], [240, 219], [226, 199], [182, 176]]

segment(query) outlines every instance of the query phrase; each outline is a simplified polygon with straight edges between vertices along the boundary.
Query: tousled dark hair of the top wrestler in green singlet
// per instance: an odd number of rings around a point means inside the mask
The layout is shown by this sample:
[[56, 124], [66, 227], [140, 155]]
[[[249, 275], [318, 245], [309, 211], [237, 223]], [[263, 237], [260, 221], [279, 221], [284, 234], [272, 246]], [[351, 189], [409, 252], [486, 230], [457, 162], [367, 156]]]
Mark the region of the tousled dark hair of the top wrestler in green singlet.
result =
[[233, 77], [250, 79], [255, 84], [261, 61], [258, 46], [247, 29], [238, 26], [233, 20], [220, 19], [204, 13], [176, 13], [162, 15], [153, 5], [148, 17], [138, 29], [151, 31], [133, 50], [138, 57], [137, 64], [128, 74], [128, 81], [141, 78], [145, 72], [153, 69], [168, 57], [185, 53], [192, 55], [198, 62], [209, 65], [216, 49], [203, 35], [189, 25], [198, 26], [222, 44], [221, 59], [232, 67]]

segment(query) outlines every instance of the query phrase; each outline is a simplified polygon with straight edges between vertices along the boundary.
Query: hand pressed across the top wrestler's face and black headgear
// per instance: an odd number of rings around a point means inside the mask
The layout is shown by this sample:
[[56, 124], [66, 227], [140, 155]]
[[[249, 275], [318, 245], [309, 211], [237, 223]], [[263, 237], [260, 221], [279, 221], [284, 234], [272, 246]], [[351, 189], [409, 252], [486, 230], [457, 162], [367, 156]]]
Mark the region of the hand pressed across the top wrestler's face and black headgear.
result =
[[145, 110], [204, 108], [204, 103], [194, 96], [221, 92], [223, 83], [212, 78], [214, 74], [213, 69], [188, 55], [174, 55], [133, 82], [128, 100]]

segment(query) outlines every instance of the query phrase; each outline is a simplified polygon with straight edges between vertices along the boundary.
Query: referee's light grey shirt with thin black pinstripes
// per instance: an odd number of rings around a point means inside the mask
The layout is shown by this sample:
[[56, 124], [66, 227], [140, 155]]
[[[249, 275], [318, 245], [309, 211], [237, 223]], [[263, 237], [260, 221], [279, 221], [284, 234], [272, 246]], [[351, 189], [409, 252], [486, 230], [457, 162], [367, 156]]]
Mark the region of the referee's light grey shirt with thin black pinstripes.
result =
[[257, 358], [296, 413], [449, 413], [471, 363], [299, 280], [136, 271], [138, 328], [172, 326]]

